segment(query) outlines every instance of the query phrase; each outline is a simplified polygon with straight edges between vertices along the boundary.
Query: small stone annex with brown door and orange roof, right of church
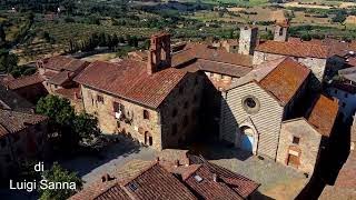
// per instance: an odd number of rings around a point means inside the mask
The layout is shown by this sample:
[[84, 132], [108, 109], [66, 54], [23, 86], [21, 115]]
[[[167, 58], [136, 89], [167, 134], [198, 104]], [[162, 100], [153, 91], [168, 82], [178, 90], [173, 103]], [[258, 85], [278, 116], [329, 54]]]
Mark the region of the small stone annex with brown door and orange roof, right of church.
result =
[[277, 161], [312, 176], [337, 116], [337, 101], [322, 94], [305, 118], [283, 121]]

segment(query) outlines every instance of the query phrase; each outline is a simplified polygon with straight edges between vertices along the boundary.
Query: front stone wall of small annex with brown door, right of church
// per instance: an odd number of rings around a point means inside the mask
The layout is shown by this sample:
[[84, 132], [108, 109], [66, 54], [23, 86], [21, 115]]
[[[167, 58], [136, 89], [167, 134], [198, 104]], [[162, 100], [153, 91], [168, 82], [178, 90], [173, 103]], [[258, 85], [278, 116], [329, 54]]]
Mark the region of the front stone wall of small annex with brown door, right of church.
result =
[[[294, 137], [299, 138], [298, 144], [293, 143]], [[280, 129], [277, 161], [287, 166], [288, 154], [297, 153], [299, 157], [297, 169], [312, 176], [318, 159], [320, 141], [322, 134], [304, 118], [284, 121]]]

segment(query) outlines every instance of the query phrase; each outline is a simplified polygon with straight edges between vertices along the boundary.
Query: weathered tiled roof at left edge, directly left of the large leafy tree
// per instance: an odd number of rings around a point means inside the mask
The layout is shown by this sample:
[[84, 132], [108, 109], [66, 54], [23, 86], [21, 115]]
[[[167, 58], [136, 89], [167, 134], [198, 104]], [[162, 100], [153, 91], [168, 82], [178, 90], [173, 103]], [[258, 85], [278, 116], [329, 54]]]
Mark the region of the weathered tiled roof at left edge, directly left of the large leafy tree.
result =
[[0, 109], [0, 124], [9, 133], [18, 132], [28, 126], [37, 124], [44, 120], [47, 120], [44, 116]]

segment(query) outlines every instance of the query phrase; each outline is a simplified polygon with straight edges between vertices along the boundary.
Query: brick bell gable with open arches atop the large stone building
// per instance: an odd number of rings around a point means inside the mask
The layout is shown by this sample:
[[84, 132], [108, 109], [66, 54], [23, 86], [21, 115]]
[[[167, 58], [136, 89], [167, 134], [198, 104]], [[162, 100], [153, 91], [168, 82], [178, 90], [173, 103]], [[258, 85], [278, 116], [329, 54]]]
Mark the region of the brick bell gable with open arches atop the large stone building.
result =
[[170, 34], [157, 33], [151, 36], [151, 47], [147, 60], [147, 73], [152, 74], [170, 67]]

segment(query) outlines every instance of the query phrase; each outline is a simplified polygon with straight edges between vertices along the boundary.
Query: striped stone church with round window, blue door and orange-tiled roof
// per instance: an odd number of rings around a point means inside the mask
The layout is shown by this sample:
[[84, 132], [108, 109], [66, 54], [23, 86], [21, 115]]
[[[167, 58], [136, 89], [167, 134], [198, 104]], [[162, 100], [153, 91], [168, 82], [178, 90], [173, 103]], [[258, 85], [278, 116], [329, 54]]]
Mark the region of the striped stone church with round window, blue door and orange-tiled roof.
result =
[[220, 140], [276, 159], [281, 121], [304, 96], [310, 70], [283, 58], [260, 64], [222, 92]]

